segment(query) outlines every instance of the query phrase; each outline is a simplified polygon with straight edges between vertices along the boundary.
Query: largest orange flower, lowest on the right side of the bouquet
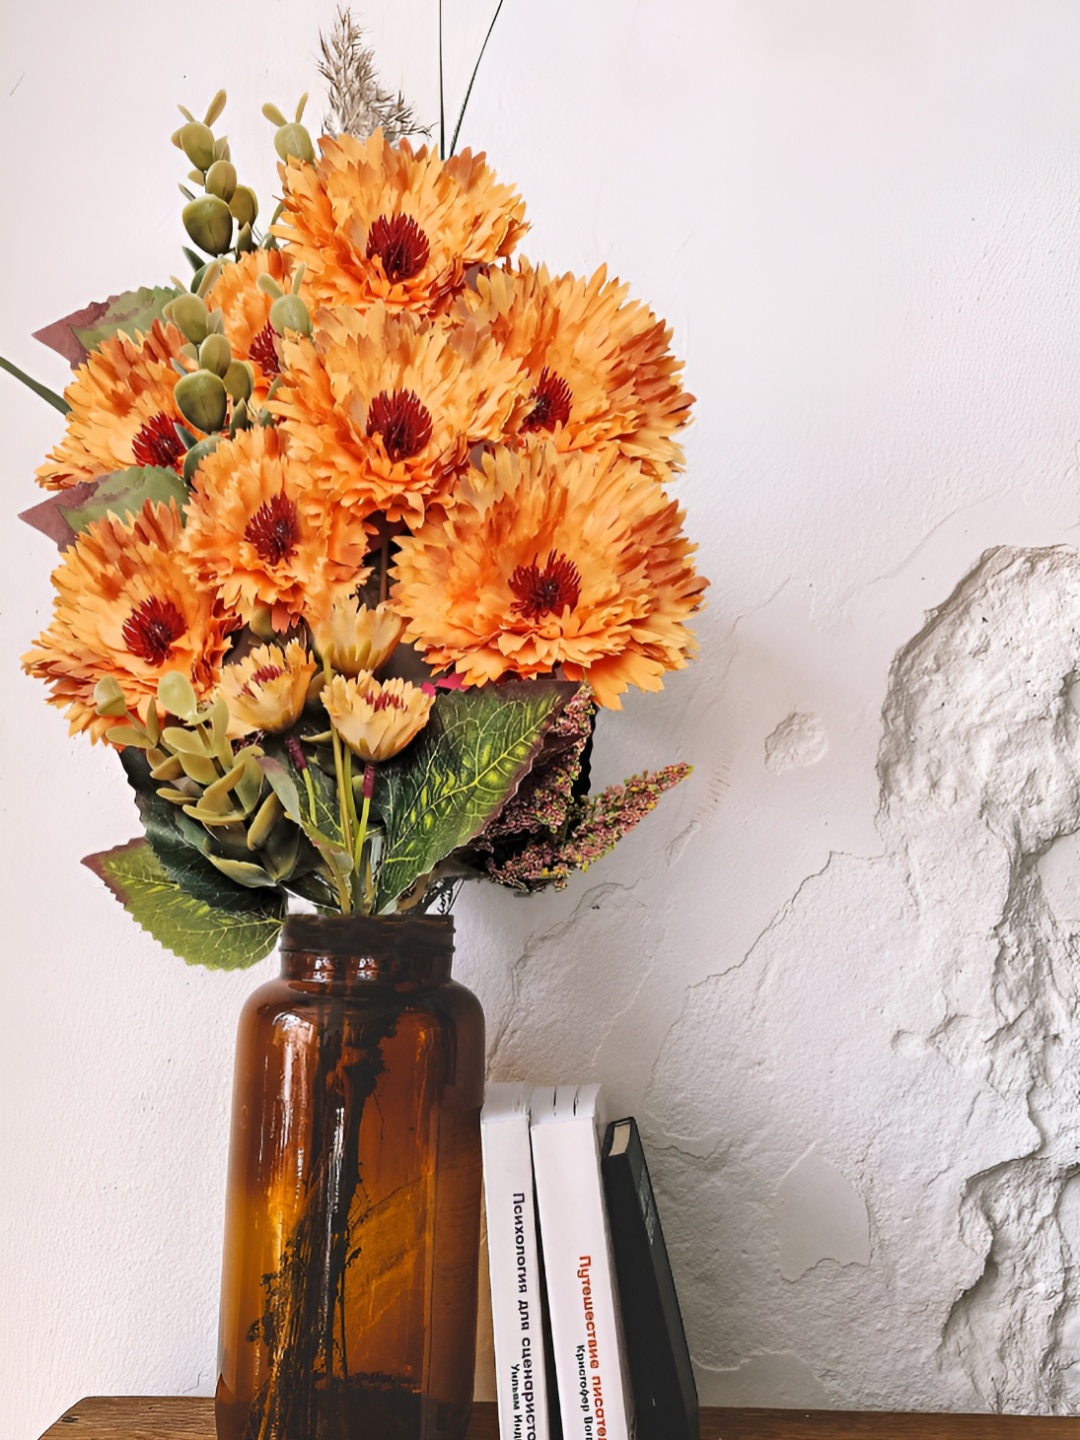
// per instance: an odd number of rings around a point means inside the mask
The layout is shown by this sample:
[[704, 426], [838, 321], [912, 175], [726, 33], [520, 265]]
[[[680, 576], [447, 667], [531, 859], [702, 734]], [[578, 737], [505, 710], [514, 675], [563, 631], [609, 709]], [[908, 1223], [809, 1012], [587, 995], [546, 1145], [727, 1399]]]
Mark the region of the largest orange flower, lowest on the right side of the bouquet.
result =
[[467, 685], [556, 667], [621, 708], [628, 685], [661, 690], [694, 649], [694, 573], [683, 513], [616, 451], [484, 456], [444, 524], [400, 541], [392, 599], [406, 639]]

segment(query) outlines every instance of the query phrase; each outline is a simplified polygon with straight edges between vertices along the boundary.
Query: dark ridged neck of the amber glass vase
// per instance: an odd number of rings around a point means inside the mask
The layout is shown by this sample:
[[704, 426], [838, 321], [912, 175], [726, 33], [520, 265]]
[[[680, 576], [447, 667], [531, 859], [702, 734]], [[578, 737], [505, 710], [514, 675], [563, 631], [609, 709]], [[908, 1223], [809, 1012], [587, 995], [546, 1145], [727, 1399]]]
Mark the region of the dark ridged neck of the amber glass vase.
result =
[[442, 985], [452, 960], [451, 916], [291, 914], [281, 937], [285, 979]]

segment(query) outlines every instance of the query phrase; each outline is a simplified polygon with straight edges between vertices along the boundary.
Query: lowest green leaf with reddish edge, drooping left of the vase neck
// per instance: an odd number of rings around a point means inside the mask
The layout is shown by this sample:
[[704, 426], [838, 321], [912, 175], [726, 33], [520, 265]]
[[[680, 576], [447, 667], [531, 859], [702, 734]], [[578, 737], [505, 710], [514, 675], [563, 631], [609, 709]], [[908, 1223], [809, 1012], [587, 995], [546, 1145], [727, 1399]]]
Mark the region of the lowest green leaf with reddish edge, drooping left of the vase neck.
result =
[[197, 900], [166, 873], [150, 844], [134, 840], [84, 861], [158, 945], [189, 965], [236, 971], [274, 949], [285, 917], [279, 891], [239, 890], [222, 878], [228, 903]]

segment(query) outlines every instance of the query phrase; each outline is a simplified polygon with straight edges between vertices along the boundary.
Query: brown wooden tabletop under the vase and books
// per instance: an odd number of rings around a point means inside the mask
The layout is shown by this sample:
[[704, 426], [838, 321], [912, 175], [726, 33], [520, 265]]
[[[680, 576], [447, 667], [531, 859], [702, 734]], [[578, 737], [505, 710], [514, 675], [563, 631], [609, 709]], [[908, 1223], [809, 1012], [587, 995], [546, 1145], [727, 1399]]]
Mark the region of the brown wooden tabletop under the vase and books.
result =
[[[701, 1440], [1080, 1440], [1080, 1417], [927, 1416], [855, 1410], [704, 1410]], [[212, 1400], [92, 1397], [42, 1440], [215, 1440]], [[468, 1440], [498, 1440], [478, 1404]]]

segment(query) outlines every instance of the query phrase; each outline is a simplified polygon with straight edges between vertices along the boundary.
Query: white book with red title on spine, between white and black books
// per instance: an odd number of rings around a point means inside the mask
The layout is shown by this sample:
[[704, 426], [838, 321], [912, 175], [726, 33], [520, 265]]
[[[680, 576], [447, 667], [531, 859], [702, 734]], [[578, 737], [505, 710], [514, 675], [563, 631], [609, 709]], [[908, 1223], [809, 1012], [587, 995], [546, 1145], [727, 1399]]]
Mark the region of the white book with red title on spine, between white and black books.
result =
[[563, 1440], [634, 1440], [600, 1185], [600, 1089], [536, 1087], [530, 1113]]

